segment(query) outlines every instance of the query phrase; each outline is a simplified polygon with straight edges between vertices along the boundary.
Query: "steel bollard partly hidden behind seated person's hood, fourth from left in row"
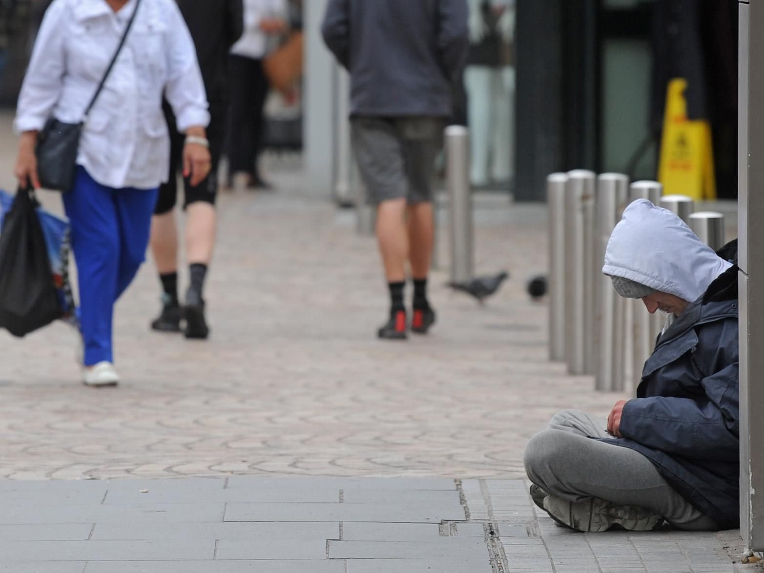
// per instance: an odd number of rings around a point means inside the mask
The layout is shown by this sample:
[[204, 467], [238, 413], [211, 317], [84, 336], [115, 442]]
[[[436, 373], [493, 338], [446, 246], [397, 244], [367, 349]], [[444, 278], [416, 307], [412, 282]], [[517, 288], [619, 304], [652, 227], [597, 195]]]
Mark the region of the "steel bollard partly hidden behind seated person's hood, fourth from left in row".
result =
[[[636, 199], [648, 199], [653, 205], [659, 205], [663, 186], [657, 181], [636, 181], [629, 189], [629, 202]], [[650, 358], [656, 339], [663, 329], [663, 317], [658, 313], [647, 312], [642, 300], [632, 303], [632, 384], [634, 390], [642, 380], [645, 362]]]

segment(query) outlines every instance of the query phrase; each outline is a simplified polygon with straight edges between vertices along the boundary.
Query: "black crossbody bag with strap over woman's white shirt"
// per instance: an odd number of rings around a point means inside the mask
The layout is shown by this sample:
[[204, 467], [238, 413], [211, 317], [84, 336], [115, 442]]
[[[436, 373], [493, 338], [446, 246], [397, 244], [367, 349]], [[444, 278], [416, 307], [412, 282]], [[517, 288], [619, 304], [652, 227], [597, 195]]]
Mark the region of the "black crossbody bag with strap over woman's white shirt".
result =
[[37, 176], [40, 178], [40, 186], [44, 189], [52, 189], [62, 193], [69, 193], [74, 186], [74, 176], [76, 173], [77, 154], [79, 153], [79, 139], [82, 137], [83, 126], [87, 121], [88, 114], [95, 105], [95, 100], [101, 95], [108, 75], [112, 73], [112, 68], [125, 46], [130, 28], [132, 28], [135, 15], [138, 14], [138, 8], [141, 6], [141, 0], [135, 3], [135, 9], [125, 28], [125, 34], [119, 41], [117, 51], [112, 57], [111, 63], [101, 79], [95, 95], [83, 114], [82, 121], [79, 123], [64, 123], [53, 116], [48, 118], [43, 131], [37, 136], [37, 145], [34, 154], [37, 155]]

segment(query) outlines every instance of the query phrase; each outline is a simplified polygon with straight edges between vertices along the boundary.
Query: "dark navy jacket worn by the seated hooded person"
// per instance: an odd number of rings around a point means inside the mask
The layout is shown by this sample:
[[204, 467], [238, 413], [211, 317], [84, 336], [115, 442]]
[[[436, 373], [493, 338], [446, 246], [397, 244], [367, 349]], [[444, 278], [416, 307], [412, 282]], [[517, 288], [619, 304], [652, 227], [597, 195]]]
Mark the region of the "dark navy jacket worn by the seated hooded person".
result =
[[604, 440], [646, 455], [724, 529], [740, 511], [736, 276], [731, 267], [666, 330], [623, 407], [623, 439]]

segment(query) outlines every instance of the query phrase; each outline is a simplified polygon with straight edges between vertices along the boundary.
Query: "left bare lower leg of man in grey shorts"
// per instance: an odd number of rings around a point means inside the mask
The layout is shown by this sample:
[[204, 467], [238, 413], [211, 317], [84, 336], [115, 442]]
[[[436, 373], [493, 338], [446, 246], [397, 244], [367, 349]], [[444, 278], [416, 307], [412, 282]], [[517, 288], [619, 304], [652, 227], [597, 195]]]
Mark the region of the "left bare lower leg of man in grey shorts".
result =
[[409, 257], [406, 199], [384, 201], [377, 207], [377, 241], [387, 282], [406, 280], [406, 259]]

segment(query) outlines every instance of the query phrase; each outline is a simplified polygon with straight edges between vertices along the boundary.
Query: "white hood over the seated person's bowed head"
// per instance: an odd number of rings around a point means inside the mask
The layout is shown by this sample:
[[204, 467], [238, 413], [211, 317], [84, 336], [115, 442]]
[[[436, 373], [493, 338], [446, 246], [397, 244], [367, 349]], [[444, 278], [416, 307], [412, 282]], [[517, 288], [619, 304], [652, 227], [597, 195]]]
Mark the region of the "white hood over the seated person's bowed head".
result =
[[602, 272], [692, 303], [731, 266], [674, 213], [638, 199], [610, 235]]

